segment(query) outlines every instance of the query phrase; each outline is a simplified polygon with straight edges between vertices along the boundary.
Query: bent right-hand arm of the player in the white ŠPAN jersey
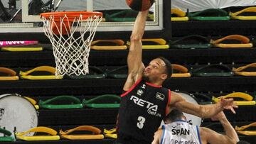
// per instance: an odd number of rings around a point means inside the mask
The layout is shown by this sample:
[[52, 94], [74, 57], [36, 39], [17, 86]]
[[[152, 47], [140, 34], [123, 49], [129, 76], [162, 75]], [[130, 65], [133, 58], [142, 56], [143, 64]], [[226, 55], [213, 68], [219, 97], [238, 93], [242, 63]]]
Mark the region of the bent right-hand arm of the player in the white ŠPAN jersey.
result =
[[225, 135], [216, 133], [215, 131], [210, 130], [209, 128], [201, 128], [200, 134], [202, 135], [201, 139], [207, 143], [226, 143], [226, 144], [235, 144], [238, 143], [239, 138], [238, 134], [235, 132], [233, 126], [231, 126], [228, 119], [225, 117], [223, 111], [218, 113], [212, 119], [220, 121], [222, 124]]

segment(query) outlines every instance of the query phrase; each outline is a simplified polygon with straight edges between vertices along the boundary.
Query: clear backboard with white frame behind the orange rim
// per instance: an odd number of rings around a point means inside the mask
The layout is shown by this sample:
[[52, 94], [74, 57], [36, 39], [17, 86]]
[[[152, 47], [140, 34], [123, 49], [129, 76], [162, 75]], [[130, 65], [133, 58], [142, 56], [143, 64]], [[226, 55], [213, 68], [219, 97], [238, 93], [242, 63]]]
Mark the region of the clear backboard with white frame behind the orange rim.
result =
[[[104, 21], [97, 31], [131, 31], [136, 11], [125, 0], [2, 0], [0, 33], [43, 33], [39, 13], [48, 11], [101, 11]], [[146, 31], [164, 28], [164, 0], [156, 0], [146, 21]], [[1, 4], [0, 4], [1, 5]], [[170, 6], [171, 7], [171, 6]]]

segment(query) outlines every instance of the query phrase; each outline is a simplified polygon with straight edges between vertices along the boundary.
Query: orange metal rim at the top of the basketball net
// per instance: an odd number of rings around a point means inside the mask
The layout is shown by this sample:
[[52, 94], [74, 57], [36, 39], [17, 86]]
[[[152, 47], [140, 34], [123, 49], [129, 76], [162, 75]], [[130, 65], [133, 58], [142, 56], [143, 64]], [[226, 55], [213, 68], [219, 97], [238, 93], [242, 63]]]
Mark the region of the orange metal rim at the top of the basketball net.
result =
[[64, 19], [63, 21], [73, 21], [73, 19], [80, 17], [89, 18], [90, 16], [102, 16], [101, 12], [97, 11], [60, 11], [60, 12], [49, 12], [49, 13], [41, 13], [41, 18], [44, 17], [46, 19], [50, 18], [50, 16], [54, 16], [54, 21], [60, 21], [60, 18], [63, 16], [67, 16], [68, 19]]

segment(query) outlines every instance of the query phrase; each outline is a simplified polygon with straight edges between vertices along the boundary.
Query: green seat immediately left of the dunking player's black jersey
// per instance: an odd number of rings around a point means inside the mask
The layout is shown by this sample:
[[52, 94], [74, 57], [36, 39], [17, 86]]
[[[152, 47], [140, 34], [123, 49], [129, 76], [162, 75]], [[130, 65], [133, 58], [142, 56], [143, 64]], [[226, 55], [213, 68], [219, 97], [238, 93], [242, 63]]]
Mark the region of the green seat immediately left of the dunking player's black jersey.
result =
[[[113, 103], [99, 103], [99, 101], [114, 101]], [[104, 94], [95, 98], [85, 100], [83, 99], [82, 104], [90, 108], [119, 108], [121, 98], [114, 94]]]

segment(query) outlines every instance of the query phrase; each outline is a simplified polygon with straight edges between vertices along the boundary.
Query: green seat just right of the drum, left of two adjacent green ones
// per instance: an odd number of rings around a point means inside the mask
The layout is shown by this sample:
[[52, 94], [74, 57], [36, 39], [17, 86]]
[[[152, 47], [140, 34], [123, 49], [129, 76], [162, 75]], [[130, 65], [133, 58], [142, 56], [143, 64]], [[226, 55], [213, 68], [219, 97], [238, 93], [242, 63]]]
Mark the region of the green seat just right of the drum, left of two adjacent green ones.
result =
[[[70, 104], [52, 104], [53, 102], [60, 103], [61, 101], [70, 101]], [[55, 96], [46, 101], [39, 100], [39, 106], [43, 109], [82, 109], [83, 107], [80, 99], [75, 96]]]

